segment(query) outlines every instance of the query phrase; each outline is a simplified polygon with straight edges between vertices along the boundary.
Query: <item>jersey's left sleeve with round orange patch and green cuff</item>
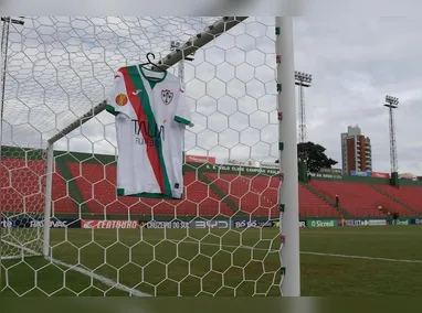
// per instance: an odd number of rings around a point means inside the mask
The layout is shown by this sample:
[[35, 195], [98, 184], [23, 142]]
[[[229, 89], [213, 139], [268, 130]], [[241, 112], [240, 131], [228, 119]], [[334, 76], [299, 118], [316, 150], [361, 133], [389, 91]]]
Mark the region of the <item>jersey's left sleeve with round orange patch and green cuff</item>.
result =
[[129, 105], [129, 98], [126, 91], [125, 79], [120, 72], [117, 72], [114, 77], [114, 85], [107, 97], [106, 110], [117, 116], [120, 112], [126, 112]]

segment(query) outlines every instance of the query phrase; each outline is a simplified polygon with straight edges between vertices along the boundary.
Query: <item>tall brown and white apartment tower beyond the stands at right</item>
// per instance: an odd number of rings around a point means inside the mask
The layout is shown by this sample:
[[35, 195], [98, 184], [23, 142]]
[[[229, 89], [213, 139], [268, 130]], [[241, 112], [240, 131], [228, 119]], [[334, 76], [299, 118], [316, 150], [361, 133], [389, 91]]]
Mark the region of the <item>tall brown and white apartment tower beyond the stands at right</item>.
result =
[[341, 165], [346, 175], [350, 171], [372, 171], [371, 141], [358, 126], [349, 126], [347, 132], [341, 133]]

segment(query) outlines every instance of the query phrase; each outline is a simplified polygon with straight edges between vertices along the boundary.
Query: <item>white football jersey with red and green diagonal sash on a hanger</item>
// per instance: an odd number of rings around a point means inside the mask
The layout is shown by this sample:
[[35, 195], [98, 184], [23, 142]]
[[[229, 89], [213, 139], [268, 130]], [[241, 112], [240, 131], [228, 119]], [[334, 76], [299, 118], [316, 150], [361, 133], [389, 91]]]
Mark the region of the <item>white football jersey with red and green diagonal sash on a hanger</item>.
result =
[[180, 79], [134, 65], [119, 68], [107, 98], [116, 118], [117, 195], [182, 198], [186, 126]]

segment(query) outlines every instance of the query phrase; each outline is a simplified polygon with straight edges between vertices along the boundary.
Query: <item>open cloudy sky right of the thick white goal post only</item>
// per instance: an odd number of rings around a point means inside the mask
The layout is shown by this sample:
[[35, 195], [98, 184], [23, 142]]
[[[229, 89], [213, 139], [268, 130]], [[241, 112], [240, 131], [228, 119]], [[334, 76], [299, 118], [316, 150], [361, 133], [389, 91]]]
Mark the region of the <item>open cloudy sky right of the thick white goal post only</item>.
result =
[[295, 20], [295, 63], [314, 75], [306, 90], [308, 139], [340, 160], [340, 132], [359, 125], [371, 138], [373, 170], [388, 172], [386, 95], [395, 111], [400, 172], [422, 174], [422, 21], [418, 18]]

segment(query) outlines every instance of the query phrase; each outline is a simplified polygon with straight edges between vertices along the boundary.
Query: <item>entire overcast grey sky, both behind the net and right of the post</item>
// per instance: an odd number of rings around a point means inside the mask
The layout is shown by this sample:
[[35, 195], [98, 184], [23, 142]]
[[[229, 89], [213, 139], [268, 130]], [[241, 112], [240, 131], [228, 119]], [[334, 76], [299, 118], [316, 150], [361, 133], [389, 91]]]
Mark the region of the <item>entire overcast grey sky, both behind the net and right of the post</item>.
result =
[[[68, 20], [42, 20], [46, 26], [33, 31], [40, 21], [28, 22], [23, 35], [11, 35], [12, 43], [27, 43], [27, 53], [19, 44], [11, 48], [4, 143], [12, 138], [20, 144], [40, 141], [38, 133], [45, 138], [103, 99], [119, 66], [144, 61], [146, 51], [165, 52], [169, 40], [186, 40], [210, 22], [196, 20], [188, 26], [187, 19], [170, 23], [126, 19], [123, 25], [119, 20], [105, 24], [98, 19], [95, 23], [102, 32], [94, 34], [83, 22]], [[200, 50], [194, 66], [187, 64], [187, 94], [196, 123], [187, 132], [191, 152], [264, 161], [277, 155], [273, 23], [273, 18], [246, 20]], [[358, 125], [371, 138], [373, 170], [389, 172], [388, 111], [382, 105], [384, 96], [392, 95], [400, 99], [395, 111], [399, 172], [422, 174], [421, 29], [416, 18], [295, 18], [295, 67], [314, 78], [305, 90], [307, 139], [326, 147], [327, 154], [340, 162], [340, 133]], [[145, 36], [151, 39], [149, 43], [140, 43]], [[83, 51], [70, 48], [81, 43]], [[56, 149], [94, 147], [97, 153], [115, 153], [114, 128], [113, 117], [101, 114]]]

